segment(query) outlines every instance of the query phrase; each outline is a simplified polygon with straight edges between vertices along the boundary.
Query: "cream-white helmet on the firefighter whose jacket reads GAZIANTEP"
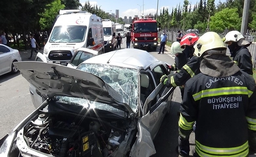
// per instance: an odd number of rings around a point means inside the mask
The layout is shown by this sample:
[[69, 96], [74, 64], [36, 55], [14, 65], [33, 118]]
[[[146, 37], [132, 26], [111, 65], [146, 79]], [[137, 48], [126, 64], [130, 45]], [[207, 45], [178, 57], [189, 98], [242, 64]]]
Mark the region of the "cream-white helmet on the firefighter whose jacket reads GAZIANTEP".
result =
[[197, 41], [197, 43], [194, 45], [195, 52], [194, 55], [197, 57], [201, 57], [204, 52], [212, 49], [218, 49], [221, 50], [221, 53], [225, 54], [226, 46], [224, 42], [222, 41], [222, 38], [219, 36], [219, 34], [215, 32], [206, 32], [204, 33]]

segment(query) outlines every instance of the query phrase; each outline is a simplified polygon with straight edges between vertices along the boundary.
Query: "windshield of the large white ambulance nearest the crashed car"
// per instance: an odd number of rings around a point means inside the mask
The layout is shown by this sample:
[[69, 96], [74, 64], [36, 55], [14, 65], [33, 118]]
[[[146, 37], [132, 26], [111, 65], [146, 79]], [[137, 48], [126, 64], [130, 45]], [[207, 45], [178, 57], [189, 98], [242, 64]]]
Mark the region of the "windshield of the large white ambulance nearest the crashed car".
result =
[[84, 41], [87, 26], [55, 26], [50, 43], [81, 43]]

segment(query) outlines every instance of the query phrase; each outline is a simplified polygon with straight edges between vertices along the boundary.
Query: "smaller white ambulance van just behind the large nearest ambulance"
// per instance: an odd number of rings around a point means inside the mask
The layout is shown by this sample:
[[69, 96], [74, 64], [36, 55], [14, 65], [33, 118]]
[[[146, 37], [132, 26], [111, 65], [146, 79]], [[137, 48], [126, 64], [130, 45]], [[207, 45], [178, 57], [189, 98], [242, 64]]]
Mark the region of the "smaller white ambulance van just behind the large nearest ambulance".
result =
[[105, 49], [113, 51], [117, 48], [116, 25], [109, 19], [102, 20]]

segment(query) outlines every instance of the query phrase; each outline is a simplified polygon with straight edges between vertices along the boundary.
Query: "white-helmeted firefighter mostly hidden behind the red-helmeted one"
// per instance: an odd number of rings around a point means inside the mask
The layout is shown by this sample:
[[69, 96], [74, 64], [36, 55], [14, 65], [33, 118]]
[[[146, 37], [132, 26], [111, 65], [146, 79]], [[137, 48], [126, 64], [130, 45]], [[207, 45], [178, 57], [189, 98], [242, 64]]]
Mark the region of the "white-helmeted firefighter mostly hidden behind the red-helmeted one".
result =
[[[171, 54], [175, 55], [175, 62], [173, 65], [171, 65], [170, 70], [171, 71], [177, 71], [178, 73], [181, 68], [187, 63], [187, 58], [185, 53], [183, 53], [183, 50], [181, 48], [180, 42], [174, 42], [171, 46]], [[184, 94], [184, 87], [180, 86], [181, 90], [181, 99], [183, 100], [183, 94]]]

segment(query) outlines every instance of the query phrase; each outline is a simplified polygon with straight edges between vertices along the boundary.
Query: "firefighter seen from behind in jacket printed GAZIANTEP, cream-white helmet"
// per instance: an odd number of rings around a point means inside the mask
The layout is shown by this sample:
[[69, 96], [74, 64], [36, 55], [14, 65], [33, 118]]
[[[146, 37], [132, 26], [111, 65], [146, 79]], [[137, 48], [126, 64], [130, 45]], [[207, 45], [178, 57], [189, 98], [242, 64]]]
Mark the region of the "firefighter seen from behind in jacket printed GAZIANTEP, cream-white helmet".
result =
[[217, 33], [203, 34], [194, 48], [202, 59], [201, 73], [185, 84], [179, 152], [189, 156], [189, 143], [183, 141], [197, 121], [194, 156], [246, 157], [255, 148], [248, 145], [256, 134], [255, 81], [225, 55], [226, 46]]

